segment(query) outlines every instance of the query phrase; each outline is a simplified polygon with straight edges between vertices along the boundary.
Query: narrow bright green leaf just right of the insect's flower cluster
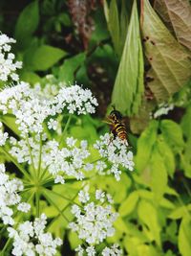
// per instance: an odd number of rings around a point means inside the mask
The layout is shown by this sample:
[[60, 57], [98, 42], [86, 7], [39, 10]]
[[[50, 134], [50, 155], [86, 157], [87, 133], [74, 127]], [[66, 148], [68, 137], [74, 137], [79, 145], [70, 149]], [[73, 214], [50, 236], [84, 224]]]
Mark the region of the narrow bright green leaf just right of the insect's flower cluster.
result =
[[146, 128], [138, 138], [138, 153], [136, 155], [136, 168], [138, 172], [144, 170], [150, 159], [153, 146], [157, 140], [158, 127], [158, 122], [155, 120], [152, 121], [149, 127]]

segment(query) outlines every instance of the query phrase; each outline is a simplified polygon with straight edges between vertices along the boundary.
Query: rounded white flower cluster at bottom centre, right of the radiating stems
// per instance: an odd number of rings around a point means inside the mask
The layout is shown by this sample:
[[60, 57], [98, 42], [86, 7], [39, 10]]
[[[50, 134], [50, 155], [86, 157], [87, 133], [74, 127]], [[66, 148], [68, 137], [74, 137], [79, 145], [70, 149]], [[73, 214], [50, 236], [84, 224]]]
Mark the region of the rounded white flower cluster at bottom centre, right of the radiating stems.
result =
[[112, 205], [108, 203], [108, 195], [102, 193], [96, 191], [95, 200], [90, 201], [88, 192], [80, 192], [79, 200], [83, 206], [74, 204], [72, 207], [75, 221], [70, 222], [69, 226], [77, 232], [79, 239], [90, 245], [100, 244], [115, 233], [113, 222], [117, 220], [117, 213], [113, 212]]

